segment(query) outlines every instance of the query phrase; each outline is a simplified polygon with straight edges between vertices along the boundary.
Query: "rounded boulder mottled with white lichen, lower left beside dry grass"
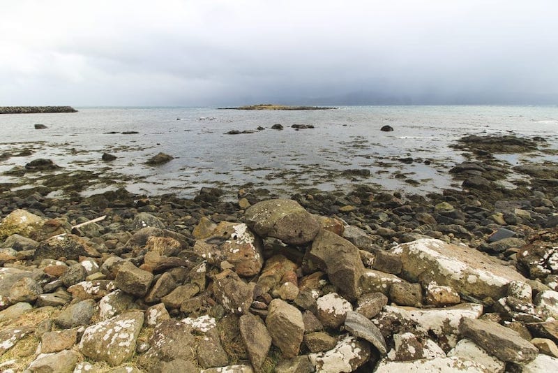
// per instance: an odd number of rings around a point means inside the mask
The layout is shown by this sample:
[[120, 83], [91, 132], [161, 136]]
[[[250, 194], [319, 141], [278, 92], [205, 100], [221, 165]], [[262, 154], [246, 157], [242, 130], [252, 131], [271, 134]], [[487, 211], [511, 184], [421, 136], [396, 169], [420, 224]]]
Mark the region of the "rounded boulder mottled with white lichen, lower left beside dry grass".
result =
[[93, 360], [119, 365], [133, 356], [143, 323], [144, 314], [137, 311], [101, 321], [86, 328], [80, 351]]

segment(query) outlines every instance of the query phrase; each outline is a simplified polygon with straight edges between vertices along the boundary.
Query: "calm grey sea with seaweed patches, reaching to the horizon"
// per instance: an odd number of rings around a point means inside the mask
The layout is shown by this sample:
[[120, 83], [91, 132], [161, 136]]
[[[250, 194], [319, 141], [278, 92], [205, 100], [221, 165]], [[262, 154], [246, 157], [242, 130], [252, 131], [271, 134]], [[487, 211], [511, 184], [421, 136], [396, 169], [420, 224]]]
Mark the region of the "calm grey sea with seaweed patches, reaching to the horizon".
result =
[[[452, 187], [448, 168], [463, 161], [449, 145], [467, 134], [542, 136], [558, 147], [558, 107], [351, 106], [318, 111], [244, 111], [213, 108], [77, 108], [77, 113], [0, 115], [0, 154], [31, 149], [30, 156], [0, 161], [14, 166], [52, 159], [66, 170], [93, 170], [135, 193], [193, 196], [202, 186], [236, 191], [248, 182], [289, 196], [316, 187], [349, 189], [373, 184], [386, 190], [425, 193]], [[177, 120], [180, 119], [180, 120]], [[33, 124], [48, 128], [33, 129]], [[282, 124], [282, 131], [271, 129]], [[292, 124], [312, 124], [295, 131]], [[379, 129], [390, 125], [395, 131]], [[226, 135], [231, 130], [265, 129]], [[137, 134], [124, 135], [124, 131]], [[116, 133], [110, 133], [116, 132]], [[103, 152], [118, 158], [101, 161]], [[158, 152], [174, 156], [163, 166], [144, 162]], [[412, 158], [410, 164], [399, 159]], [[508, 156], [511, 163], [538, 156]], [[552, 159], [551, 156], [540, 157]], [[426, 162], [425, 162], [426, 161]], [[370, 170], [370, 176], [343, 175]], [[123, 180], [127, 180], [123, 182]], [[412, 182], [409, 182], [412, 180]], [[418, 183], [418, 184], [417, 184]], [[456, 187], [453, 185], [453, 187]]]

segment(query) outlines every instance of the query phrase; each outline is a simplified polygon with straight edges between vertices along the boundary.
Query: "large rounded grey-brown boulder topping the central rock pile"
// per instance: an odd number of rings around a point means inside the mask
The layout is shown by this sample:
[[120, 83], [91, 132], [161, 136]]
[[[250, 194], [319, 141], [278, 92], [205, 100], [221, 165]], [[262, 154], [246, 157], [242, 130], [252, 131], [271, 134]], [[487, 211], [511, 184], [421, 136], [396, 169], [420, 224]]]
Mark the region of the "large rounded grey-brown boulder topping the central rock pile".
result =
[[248, 207], [246, 224], [261, 237], [286, 244], [306, 244], [316, 237], [319, 223], [294, 200], [265, 200]]

